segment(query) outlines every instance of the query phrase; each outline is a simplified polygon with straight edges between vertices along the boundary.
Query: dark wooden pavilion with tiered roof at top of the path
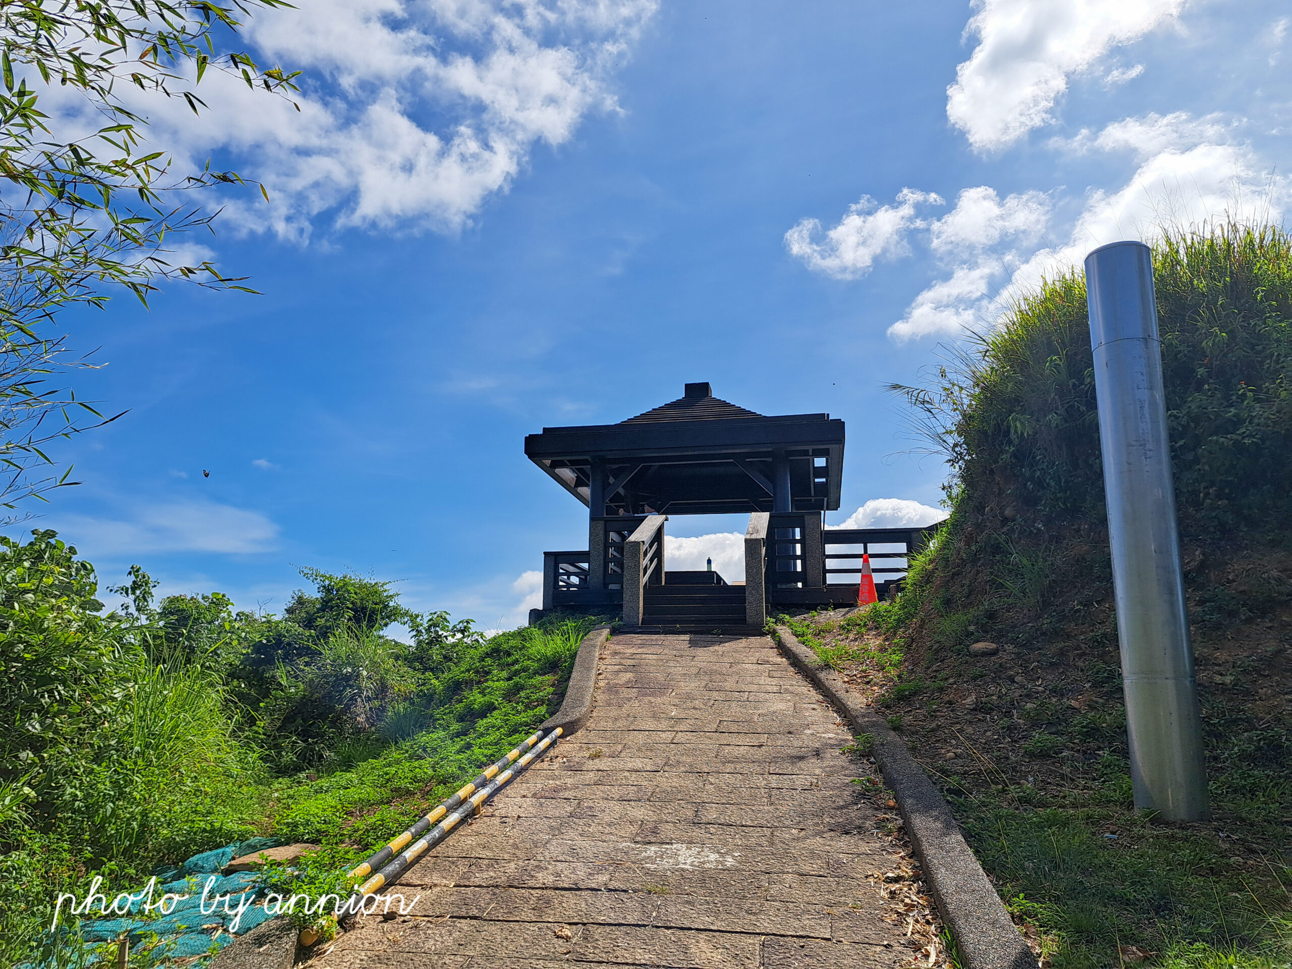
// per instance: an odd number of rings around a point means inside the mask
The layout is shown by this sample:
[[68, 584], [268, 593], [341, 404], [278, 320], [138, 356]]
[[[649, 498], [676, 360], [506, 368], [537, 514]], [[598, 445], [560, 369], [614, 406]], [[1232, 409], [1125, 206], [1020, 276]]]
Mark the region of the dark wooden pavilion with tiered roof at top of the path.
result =
[[[769, 603], [855, 602], [857, 559], [872, 544], [876, 583], [891, 585], [924, 531], [824, 528], [840, 503], [844, 421], [764, 416], [708, 384], [619, 424], [544, 428], [525, 438], [525, 453], [588, 506], [588, 549], [544, 553], [543, 609], [531, 621], [621, 610], [628, 627], [761, 628]], [[744, 584], [667, 571], [668, 517], [724, 513], [749, 514]]]

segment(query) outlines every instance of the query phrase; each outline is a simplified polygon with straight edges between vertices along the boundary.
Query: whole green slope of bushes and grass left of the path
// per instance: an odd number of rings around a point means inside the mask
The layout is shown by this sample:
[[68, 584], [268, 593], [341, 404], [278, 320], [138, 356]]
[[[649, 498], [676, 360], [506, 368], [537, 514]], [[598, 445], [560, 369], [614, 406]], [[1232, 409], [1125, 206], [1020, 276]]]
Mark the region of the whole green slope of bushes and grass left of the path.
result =
[[0, 964], [50, 943], [57, 893], [94, 875], [137, 886], [252, 833], [323, 841], [315, 868], [389, 839], [547, 718], [590, 627], [484, 640], [389, 583], [304, 574], [317, 594], [275, 618], [156, 603], [134, 566], [106, 611], [54, 532], [0, 537]]

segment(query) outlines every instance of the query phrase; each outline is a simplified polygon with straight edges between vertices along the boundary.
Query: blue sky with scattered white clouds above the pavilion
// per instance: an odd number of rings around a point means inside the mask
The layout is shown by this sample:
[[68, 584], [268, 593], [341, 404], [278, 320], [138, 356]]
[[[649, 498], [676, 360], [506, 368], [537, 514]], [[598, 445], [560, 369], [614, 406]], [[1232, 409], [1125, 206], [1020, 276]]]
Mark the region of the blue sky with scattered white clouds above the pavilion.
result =
[[[244, 607], [276, 611], [309, 565], [517, 624], [541, 552], [587, 539], [525, 434], [699, 380], [848, 422], [831, 523], [928, 514], [946, 469], [901, 453], [884, 385], [1094, 245], [1280, 220], [1288, 27], [1265, 0], [265, 14], [251, 41], [305, 72], [300, 112], [220, 78], [203, 119], [149, 105], [181, 165], [265, 182], [182, 243], [264, 295], [65, 315], [109, 364], [79, 395], [129, 413], [65, 446], [84, 484], [10, 531]], [[668, 528], [721, 563], [743, 522]]]

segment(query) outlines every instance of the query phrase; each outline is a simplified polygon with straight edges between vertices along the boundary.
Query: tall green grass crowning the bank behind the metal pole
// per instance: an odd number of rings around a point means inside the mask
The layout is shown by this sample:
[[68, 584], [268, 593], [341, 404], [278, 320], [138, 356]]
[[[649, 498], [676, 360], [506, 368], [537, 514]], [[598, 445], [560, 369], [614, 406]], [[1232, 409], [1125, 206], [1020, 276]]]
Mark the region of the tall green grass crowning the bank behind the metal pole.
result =
[[[1292, 517], [1292, 236], [1221, 224], [1168, 233], [1154, 283], [1176, 490], [1186, 528]], [[960, 495], [992, 521], [1102, 509], [1084, 279], [1021, 300], [928, 389], [922, 415]]]

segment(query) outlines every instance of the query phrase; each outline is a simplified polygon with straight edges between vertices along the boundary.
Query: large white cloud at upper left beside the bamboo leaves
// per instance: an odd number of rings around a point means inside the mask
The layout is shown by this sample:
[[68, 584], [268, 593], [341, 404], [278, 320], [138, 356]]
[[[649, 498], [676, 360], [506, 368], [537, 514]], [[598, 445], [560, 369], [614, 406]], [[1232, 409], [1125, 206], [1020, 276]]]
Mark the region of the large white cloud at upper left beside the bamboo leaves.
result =
[[[315, 0], [258, 10], [247, 37], [267, 63], [305, 71], [291, 101], [208, 71], [200, 118], [182, 101], [123, 92], [158, 145], [190, 167], [212, 152], [265, 183], [226, 200], [245, 231], [304, 239], [336, 227], [453, 233], [506, 191], [539, 142], [614, 111], [607, 81], [658, 0]], [[59, 93], [68, 127], [84, 105]], [[187, 159], [185, 159], [187, 155]]]

